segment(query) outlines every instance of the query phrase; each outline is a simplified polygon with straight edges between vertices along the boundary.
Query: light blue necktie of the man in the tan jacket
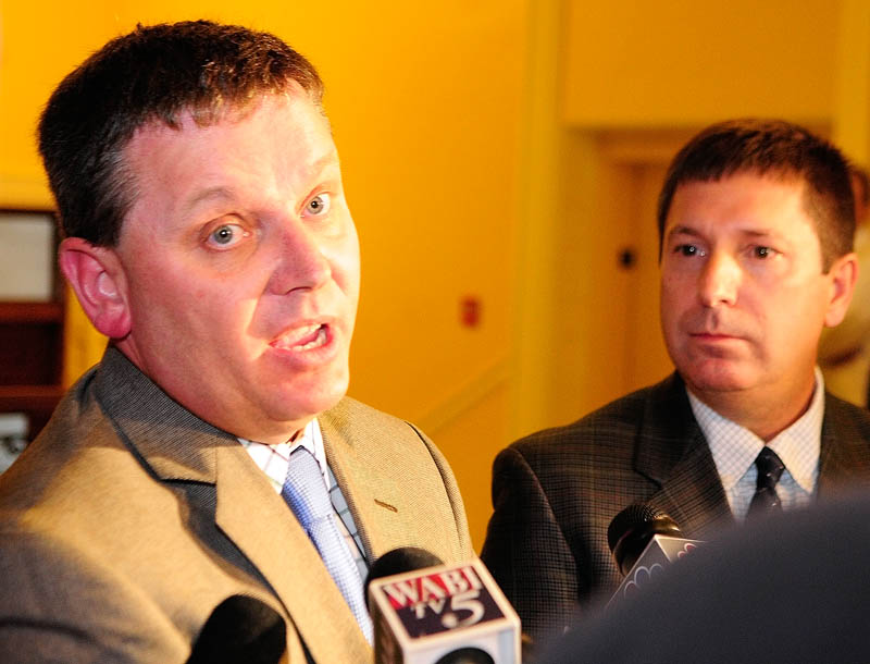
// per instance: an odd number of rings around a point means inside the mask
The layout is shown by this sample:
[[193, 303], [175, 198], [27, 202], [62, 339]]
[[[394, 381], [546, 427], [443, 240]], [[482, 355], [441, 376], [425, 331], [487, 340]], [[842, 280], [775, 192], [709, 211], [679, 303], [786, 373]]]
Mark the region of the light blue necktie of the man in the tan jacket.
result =
[[371, 643], [372, 619], [365, 606], [365, 599], [362, 597], [359, 569], [335, 524], [335, 511], [330, 501], [330, 492], [323, 482], [320, 465], [304, 447], [299, 447], [290, 455], [287, 479], [284, 480], [281, 495], [287, 501], [314, 543], [330, 576], [338, 586], [362, 634]]

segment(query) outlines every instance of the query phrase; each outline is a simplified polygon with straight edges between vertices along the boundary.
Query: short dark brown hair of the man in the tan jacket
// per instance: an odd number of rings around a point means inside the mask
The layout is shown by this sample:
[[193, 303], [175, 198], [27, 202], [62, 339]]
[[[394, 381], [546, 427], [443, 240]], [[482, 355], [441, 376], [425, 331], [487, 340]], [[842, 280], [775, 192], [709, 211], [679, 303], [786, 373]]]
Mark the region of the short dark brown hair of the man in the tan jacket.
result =
[[135, 196], [123, 150], [139, 127], [177, 127], [185, 111], [204, 126], [294, 82], [321, 104], [323, 84], [308, 60], [274, 35], [236, 25], [139, 25], [109, 41], [61, 82], [39, 122], [64, 234], [117, 243]]

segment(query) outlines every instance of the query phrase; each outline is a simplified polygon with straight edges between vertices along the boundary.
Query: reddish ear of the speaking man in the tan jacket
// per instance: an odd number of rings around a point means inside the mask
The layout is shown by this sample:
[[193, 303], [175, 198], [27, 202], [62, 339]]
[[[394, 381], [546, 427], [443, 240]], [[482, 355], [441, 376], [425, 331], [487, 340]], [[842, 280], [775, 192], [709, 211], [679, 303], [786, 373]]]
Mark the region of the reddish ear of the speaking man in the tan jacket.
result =
[[58, 249], [58, 261], [94, 327], [110, 339], [126, 336], [130, 330], [126, 275], [114, 249], [67, 237]]

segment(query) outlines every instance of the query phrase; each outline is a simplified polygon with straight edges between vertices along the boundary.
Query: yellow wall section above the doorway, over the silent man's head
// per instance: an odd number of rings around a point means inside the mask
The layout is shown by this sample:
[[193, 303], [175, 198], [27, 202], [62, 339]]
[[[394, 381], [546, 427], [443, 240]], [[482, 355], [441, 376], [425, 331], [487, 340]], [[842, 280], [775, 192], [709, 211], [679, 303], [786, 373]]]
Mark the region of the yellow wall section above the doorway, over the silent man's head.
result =
[[830, 118], [837, 0], [567, 4], [569, 124]]

